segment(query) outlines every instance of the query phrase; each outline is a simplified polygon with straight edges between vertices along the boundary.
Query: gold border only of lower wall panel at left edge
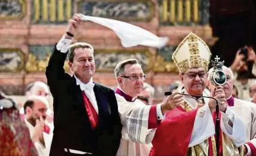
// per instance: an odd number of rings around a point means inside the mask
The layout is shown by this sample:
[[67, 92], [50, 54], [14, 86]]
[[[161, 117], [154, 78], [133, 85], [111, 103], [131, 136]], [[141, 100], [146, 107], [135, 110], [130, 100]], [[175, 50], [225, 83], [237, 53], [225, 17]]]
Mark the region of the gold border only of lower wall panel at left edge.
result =
[[18, 66], [17, 69], [4, 70], [4, 71], [1, 71], [1, 72], [20, 72], [24, 69], [25, 54], [23, 53], [23, 51], [20, 48], [0, 48], [0, 51], [3, 51], [3, 52], [13, 52], [13, 51], [15, 51], [16, 53], [18, 53], [18, 55], [20, 56], [20, 59], [21, 59], [21, 63], [20, 63], [21, 65]]

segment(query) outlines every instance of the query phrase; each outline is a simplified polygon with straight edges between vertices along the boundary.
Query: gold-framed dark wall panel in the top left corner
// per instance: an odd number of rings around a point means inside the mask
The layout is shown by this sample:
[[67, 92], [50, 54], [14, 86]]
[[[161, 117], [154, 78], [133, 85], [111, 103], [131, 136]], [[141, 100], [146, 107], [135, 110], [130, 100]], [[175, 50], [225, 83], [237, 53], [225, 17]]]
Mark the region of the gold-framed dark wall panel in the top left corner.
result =
[[26, 7], [25, 0], [0, 0], [0, 19], [22, 19]]

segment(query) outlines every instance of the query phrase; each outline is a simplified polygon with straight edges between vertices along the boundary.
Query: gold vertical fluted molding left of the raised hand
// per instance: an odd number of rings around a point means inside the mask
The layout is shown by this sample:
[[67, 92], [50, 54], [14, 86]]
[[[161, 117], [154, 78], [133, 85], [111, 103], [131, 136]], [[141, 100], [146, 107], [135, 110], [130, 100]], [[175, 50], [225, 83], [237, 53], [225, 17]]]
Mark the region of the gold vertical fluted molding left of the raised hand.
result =
[[74, 14], [74, 0], [32, 0], [32, 24], [65, 24]]

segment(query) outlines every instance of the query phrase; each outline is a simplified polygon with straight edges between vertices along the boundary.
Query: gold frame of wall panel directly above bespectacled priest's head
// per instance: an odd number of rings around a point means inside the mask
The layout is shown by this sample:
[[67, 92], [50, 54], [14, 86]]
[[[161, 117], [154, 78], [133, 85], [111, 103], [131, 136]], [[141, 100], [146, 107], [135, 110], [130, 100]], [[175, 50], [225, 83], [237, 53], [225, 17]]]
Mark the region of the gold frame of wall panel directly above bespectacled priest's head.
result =
[[[154, 55], [150, 53], [150, 51], [148, 51], [148, 49], [138, 49], [138, 50], [133, 50], [133, 49], [95, 49], [95, 54], [96, 53], [129, 53], [129, 54], [133, 54], [133, 53], [145, 53], [146, 56], [148, 56], [148, 66], [146, 69], [144, 69], [144, 72], [148, 72], [151, 69], [154, 68], [154, 62], [153, 62], [153, 58]], [[112, 68], [106, 68], [106, 69], [96, 69], [96, 72], [114, 72], [114, 69]]]

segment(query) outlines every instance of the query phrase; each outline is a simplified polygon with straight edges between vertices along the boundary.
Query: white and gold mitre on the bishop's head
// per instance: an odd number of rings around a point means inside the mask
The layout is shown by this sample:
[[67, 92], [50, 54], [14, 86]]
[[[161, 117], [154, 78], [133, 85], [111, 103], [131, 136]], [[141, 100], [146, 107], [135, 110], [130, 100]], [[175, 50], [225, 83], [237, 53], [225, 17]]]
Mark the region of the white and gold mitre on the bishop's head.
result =
[[208, 71], [211, 51], [203, 39], [190, 32], [178, 45], [172, 59], [180, 73], [197, 67], [203, 67]]

